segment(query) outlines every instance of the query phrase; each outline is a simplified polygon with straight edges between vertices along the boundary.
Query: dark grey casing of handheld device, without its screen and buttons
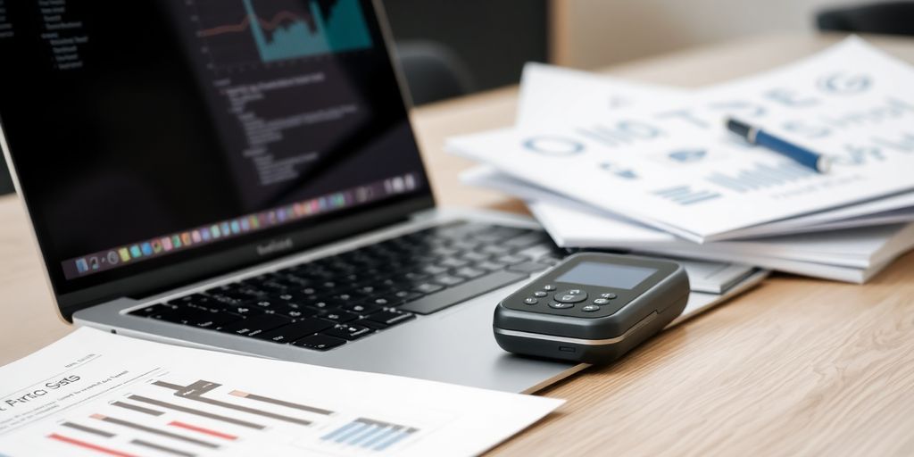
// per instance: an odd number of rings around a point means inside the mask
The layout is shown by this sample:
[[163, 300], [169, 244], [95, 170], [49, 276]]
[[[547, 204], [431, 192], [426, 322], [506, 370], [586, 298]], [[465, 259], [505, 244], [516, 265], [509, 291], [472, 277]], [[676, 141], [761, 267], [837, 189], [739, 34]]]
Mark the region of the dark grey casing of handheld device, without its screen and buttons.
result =
[[[532, 289], [537, 289], [534, 284], [549, 282], [555, 278], [556, 271], [569, 263], [589, 260], [623, 264], [660, 263], [666, 264], [666, 270], [670, 272], [618, 311], [606, 316], [588, 318], [536, 313], [505, 305], [510, 301], [523, 300]], [[603, 253], [575, 254], [498, 303], [493, 320], [495, 341], [506, 351], [524, 356], [584, 363], [611, 362], [663, 330], [682, 314], [689, 292], [685, 269], [673, 261]]]

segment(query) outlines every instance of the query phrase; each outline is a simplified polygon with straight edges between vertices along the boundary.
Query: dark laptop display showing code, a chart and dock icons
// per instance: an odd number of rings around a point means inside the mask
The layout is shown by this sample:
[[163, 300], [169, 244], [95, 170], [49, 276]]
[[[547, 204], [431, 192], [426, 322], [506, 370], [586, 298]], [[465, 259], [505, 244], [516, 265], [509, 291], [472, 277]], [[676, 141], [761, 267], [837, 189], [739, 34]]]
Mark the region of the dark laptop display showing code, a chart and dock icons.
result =
[[0, 59], [58, 294], [429, 201], [370, 1], [0, 0]]

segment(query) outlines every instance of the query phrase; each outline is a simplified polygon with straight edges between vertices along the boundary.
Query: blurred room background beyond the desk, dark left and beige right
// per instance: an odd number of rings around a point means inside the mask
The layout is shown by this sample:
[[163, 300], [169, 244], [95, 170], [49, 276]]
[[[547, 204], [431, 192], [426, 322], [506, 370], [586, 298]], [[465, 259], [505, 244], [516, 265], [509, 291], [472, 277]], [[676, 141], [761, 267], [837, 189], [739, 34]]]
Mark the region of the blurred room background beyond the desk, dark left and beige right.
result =
[[[515, 84], [527, 61], [598, 68], [777, 32], [914, 36], [914, 1], [383, 0], [414, 105]], [[13, 191], [0, 161], [0, 194]]]

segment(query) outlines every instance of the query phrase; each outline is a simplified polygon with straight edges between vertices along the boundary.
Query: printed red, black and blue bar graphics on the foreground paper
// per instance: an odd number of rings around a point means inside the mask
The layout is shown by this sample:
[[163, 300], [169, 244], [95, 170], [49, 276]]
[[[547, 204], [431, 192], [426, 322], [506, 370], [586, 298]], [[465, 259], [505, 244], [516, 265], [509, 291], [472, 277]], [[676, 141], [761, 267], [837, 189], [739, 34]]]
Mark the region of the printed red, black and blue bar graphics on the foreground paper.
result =
[[441, 423], [400, 424], [294, 397], [303, 396], [155, 370], [103, 406], [74, 409], [43, 430], [39, 449], [120, 457], [393, 455], [420, 438], [423, 428]]

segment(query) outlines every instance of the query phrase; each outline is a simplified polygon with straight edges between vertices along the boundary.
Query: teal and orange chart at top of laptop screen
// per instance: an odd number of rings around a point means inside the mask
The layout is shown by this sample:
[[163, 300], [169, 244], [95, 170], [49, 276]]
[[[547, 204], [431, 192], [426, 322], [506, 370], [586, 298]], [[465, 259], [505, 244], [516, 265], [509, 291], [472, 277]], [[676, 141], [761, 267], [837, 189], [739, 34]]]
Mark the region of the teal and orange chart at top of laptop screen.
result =
[[358, 0], [192, 0], [214, 67], [269, 64], [372, 48]]

